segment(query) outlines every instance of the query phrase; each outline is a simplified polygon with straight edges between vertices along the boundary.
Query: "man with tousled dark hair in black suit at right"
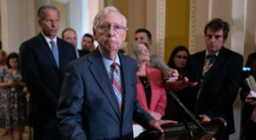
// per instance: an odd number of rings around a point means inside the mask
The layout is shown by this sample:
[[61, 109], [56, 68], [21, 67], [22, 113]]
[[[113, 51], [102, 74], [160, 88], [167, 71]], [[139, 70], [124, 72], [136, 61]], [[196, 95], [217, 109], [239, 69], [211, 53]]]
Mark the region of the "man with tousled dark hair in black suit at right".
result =
[[229, 139], [235, 132], [232, 104], [238, 92], [242, 57], [224, 48], [229, 25], [220, 19], [210, 21], [205, 27], [207, 50], [191, 55], [185, 67], [185, 76], [198, 82], [179, 94], [179, 98], [203, 121], [221, 116], [227, 120], [227, 130], [217, 139]]

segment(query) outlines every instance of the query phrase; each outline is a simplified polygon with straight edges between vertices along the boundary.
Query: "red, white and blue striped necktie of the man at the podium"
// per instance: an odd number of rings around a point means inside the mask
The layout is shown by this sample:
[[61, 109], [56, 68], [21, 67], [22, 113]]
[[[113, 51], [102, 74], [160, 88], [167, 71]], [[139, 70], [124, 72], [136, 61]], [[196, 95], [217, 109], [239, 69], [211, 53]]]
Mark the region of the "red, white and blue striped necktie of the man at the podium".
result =
[[112, 76], [112, 86], [114, 94], [119, 103], [119, 109], [122, 109], [122, 88], [121, 88], [121, 81], [119, 76], [119, 70], [117, 69], [117, 64], [113, 62], [112, 64], [113, 69], [113, 76]]

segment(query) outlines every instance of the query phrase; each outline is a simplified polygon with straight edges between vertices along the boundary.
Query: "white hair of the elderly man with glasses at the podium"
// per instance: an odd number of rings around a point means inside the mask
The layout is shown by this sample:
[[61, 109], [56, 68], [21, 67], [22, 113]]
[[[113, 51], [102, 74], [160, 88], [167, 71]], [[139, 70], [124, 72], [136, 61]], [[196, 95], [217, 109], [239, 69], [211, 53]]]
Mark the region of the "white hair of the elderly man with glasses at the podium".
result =
[[[98, 14], [96, 14], [96, 17], [93, 20], [93, 29], [96, 30], [96, 28], [98, 27], [98, 25], [100, 24], [100, 20], [102, 19], [102, 17], [105, 14], [108, 14], [108, 12], [118, 12], [119, 14], [121, 14], [119, 12], [119, 10], [113, 6], [108, 6], [106, 8], [103, 8]], [[125, 18], [125, 16], [123, 14], [122, 18], [123, 18], [123, 22], [124, 22], [124, 27], [127, 28], [127, 20]]]

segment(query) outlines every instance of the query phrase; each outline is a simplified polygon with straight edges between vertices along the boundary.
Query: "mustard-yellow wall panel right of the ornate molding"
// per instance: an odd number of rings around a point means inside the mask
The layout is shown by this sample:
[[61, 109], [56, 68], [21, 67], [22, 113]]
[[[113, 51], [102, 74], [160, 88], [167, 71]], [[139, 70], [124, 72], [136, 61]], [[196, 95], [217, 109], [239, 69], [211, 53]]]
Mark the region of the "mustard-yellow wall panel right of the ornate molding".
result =
[[166, 49], [168, 62], [172, 50], [179, 45], [189, 48], [189, 1], [166, 1]]

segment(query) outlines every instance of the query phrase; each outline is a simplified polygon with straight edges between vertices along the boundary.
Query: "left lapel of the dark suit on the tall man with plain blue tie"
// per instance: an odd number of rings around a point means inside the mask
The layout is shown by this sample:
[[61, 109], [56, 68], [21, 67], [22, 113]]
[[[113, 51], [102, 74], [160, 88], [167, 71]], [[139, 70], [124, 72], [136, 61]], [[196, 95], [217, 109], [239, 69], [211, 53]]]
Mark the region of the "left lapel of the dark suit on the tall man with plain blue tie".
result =
[[38, 36], [41, 41], [41, 48], [43, 49], [42, 52], [45, 53], [45, 56], [47, 56], [47, 57], [45, 57], [45, 59], [49, 59], [49, 61], [54, 65], [55, 69], [59, 70], [59, 68], [57, 67], [57, 64], [55, 62], [55, 58], [49, 49], [49, 45], [44, 39], [44, 36], [41, 33]]

